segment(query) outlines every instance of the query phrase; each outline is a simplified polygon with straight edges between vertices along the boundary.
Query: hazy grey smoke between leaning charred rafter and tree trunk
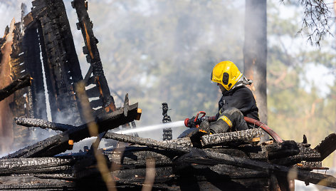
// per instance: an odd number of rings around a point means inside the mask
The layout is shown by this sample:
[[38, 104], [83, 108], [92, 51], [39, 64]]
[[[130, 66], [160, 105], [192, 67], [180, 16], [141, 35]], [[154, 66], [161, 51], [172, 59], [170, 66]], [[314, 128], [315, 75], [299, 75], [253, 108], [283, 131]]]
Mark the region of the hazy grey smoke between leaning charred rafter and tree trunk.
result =
[[[83, 37], [72, 24], [77, 21], [75, 10], [70, 0], [64, 4], [85, 68]], [[89, 1], [108, 84], [121, 97], [129, 93], [130, 103], [140, 103], [137, 125], [161, 123], [164, 102], [172, 108], [172, 121], [190, 118], [198, 110], [215, 115], [221, 94], [210, 83], [212, 67], [223, 60], [243, 66], [241, 7], [243, 3], [235, 1]], [[116, 93], [116, 105], [122, 106]], [[173, 137], [183, 130], [175, 128]], [[162, 140], [162, 130], [140, 136]]]

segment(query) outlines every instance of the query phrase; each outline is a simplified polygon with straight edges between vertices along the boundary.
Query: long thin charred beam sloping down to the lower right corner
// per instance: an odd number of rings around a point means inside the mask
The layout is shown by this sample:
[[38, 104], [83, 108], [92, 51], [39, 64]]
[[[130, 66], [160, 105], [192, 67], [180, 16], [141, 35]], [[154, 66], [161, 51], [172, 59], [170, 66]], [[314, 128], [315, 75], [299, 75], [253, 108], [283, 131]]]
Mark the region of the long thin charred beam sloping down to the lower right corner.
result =
[[[190, 148], [190, 147], [182, 147], [177, 145], [176, 143], [162, 143], [157, 140], [151, 140], [147, 138], [136, 138], [130, 135], [120, 135], [117, 133], [107, 133], [105, 138], [112, 138], [115, 140], [120, 140], [126, 143], [135, 143], [139, 145], [146, 145], [148, 147], [153, 148], [163, 148], [167, 150], [174, 150], [179, 153], [187, 153], [190, 155], [189, 162], [191, 163], [202, 163], [206, 161], [206, 164], [209, 164], [209, 160], [211, 162], [217, 162], [219, 164], [233, 165], [236, 167], [243, 167], [252, 170], [269, 170], [275, 172], [281, 176], [287, 176], [288, 172], [292, 170], [291, 167], [285, 167], [283, 165], [273, 165], [268, 162], [261, 162], [246, 158], [238, 158], [231, 155], [226, 155], [223, 153], [216, 153], [208, 150], [201, 150], [199, 148]], [[194, 160], [196, 158], [201, 158], [201, 160]], [[184, 158], [183, 162], [187, 162]], [[327, 187], [336, 187], [336, 178], [331, 175], [322, 175], [320, 173], [308, 172], [306, 170], [296, 170], [298, 176], [297, 180], [301, 180], [304, 182], [310, 182], [316, 185], [323, 185]], [[322, 180], [322, 181], [321, 181]]]

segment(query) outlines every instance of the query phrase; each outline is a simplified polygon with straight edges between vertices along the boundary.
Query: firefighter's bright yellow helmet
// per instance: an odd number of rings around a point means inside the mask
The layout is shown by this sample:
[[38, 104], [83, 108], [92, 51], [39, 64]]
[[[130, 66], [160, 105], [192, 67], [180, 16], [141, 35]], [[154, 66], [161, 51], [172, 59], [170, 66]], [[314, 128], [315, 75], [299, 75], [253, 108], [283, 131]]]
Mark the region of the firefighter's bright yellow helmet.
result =
[[231, 61], [217, 63], [211, 73], [211, 81], [220, 83], [227, 91], [231, 90], [243, 76], [237, 66]]

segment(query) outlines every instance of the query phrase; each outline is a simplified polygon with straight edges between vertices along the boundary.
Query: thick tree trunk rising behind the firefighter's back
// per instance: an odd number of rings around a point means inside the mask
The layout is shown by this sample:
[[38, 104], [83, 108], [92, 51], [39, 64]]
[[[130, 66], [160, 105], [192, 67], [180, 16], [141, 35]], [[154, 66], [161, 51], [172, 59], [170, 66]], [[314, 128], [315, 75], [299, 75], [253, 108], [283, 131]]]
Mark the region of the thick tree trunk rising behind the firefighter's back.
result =
[[253, 80], [249, 87], [259, 108], [261, 122], [267, 124], [266, 61], [267, 19], [266, 0], [246, 1], [244, 74]]

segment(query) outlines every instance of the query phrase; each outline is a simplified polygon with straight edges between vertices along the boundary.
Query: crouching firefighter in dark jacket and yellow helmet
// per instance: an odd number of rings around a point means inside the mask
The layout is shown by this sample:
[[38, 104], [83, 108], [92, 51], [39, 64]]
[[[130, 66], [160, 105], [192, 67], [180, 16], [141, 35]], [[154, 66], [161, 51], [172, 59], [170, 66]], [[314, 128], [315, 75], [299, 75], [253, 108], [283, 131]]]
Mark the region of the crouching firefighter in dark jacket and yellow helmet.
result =
[[219, 86], [223, 96], [219, 100], [216, 121], [209, 126], [210, 133], [253, 128], [253, 125], [248, 126], [243, 119], [246, 116], [259, 120], [256, 100], [251, 90], [246, 87], [252, 81], [246, 79], [231, 61], [217, 63], [212, 70], [211, 81]]

